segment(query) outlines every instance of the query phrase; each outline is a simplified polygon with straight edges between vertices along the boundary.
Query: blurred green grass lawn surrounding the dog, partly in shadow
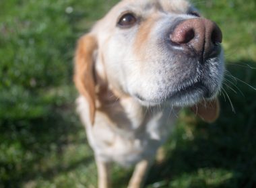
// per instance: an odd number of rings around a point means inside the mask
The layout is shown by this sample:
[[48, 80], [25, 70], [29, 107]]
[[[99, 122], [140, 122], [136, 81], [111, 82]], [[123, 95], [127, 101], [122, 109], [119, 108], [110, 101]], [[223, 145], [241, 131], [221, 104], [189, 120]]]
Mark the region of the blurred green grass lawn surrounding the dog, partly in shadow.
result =
[[[75, 113], [73, 51], [117, 0], [0, 1], [0, 187], [96, 187]], [[256, 1], [195, 0], [224, 34], [214, 124], [183, 111], [146, 187], [256, 187]], [[115, 166], [113, 187], [131, 169]]]

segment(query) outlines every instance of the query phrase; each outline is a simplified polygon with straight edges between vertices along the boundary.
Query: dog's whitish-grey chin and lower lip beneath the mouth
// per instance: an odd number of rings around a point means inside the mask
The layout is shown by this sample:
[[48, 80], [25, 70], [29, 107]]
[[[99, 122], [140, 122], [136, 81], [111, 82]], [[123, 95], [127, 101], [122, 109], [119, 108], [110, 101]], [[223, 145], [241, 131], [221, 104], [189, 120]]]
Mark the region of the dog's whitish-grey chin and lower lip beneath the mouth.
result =
[[179, 91], [170, 91], [169, 93], [158, 93], [154, 99], [146, 99], [141, 95], [136, 94], [135, 99], [145, 106], [154, 105], [170, 105], [172, 107], [187, 107], [193, 106], [199, 101], [210, 100], [216, 97], [218, 89], [210, 92], [210, 89], [202, 83], [195, 83], [189, 87], [179, 89]]

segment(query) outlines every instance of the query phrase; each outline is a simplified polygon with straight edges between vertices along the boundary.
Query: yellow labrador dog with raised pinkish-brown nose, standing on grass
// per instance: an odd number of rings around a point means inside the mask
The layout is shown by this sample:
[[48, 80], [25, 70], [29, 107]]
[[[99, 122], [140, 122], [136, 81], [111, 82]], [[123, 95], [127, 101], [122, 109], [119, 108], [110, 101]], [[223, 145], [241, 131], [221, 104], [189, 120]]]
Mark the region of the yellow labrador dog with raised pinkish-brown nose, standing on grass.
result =
[[77, 109], [110, 187], [110, 163], [135, 164], [141, 187], [182, 107], [218, 117], [222, 32], [185, 0], [123, 0], [82, 36], [75, 53]]

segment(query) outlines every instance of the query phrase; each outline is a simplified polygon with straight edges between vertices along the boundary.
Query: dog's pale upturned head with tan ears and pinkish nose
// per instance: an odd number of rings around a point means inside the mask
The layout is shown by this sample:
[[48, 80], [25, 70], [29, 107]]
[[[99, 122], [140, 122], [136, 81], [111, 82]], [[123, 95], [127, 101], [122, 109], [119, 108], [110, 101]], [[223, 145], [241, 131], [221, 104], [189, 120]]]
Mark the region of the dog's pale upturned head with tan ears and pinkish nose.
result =
[[98, 77], [117, 95], [143, 105], [183, 107], [212, 100], [210, 108], [204, 102], [194, 109], [210, 122], [218, 116], [221, 42], [216, 23], [188, 1], [123, 0], [79, 40], [75, 84], [90, 103], [91, 119]]

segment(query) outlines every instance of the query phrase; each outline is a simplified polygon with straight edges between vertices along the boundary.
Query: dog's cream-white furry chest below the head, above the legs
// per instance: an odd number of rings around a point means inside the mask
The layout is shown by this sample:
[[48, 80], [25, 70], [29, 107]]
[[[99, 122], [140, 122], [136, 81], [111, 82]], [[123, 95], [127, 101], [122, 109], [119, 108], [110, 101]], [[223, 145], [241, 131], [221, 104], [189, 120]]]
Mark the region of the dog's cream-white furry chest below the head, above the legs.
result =
[[88, 121], [86, 100], [79, 98], [77, 101], [80, 116], [86, 125], [88, 141], [96, 157], [124, 166], [154, 157], [156, 150], [170, 134], [175, 119], [170, 109], [143, 111], [137, 104], [123, 101], [124, 108], [110, 109], [113, 116], [97, 111], [92, 126]]

